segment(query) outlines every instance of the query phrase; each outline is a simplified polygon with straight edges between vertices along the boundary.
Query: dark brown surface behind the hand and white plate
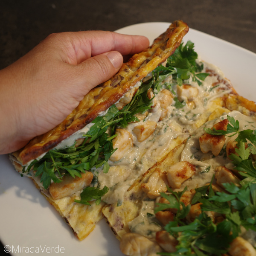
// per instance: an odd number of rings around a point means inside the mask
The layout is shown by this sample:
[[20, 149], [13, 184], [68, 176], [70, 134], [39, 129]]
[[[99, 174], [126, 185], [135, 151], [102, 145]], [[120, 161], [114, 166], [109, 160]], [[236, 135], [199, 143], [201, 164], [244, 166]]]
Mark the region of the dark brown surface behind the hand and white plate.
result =
[[0, 69], [53, 32], [177, 19], [256, 53], [256, 0], [0, 0]]

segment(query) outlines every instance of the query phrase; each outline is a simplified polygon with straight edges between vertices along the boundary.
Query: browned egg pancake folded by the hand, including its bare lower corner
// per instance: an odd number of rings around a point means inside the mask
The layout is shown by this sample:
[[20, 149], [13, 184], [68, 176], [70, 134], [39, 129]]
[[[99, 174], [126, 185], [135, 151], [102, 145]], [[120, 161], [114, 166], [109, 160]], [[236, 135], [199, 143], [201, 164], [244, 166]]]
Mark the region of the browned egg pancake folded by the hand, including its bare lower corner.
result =
[[[23, 165], [54, 148], [62, 140], [83, 128], [108, 109], [113, 103], [128, 92], [137, 82], [154, 70], [160, 63], [175, 51], [180, 45], [183, 36], [188, 32], [188, 26], [181, 20], [173, 22], [169, 29], [157, 39], [153, 45], [139, 54], [135, 54], [127, 63], [124, 63], [119, 72], [109, 81], [92, 89], [79, 106], [53, 130], [47, 134], [35, 137], [25, 148], [10, 154], [15, 169], [22, 174]], [[84, 239], [95, 228], [95, 224], [103, 217], [102, 208], [105, 203], [91, 206], [75, 203], [80, 200], [81, 191], [64, 198], [54, 200], [49, 189], [44, 189], [40, 177], [31, 177], [40, 192], [50, 204], [60, 213], [70, 225], [79, 240]]]

